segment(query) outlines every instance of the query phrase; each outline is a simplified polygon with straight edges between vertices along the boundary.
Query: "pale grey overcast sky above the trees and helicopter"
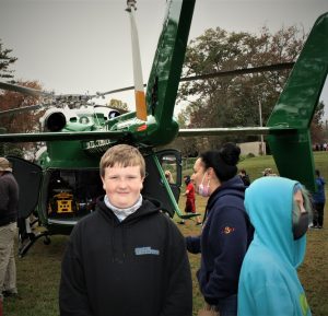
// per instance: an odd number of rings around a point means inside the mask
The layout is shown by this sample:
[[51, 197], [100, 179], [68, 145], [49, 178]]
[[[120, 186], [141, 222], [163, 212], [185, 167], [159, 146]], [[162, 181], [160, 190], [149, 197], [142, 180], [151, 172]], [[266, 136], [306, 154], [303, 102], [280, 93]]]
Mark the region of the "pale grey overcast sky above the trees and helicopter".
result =
[[[143, 81], [147, 82], [165, 13], [165, 0], [137, 0]], [[126, 0], [0, 0], [0, 38], [19, 58], [15, 79], [37, 80], [59, 93], [133, 85]], [[328, 12], [327, 0], [197, 0], [189, 39], [206, 28], [258, 33], [304, 26]], [[133, 108], [133, 93], [110, 95]], [[321, 100], [328, 114], [328, 84]]]

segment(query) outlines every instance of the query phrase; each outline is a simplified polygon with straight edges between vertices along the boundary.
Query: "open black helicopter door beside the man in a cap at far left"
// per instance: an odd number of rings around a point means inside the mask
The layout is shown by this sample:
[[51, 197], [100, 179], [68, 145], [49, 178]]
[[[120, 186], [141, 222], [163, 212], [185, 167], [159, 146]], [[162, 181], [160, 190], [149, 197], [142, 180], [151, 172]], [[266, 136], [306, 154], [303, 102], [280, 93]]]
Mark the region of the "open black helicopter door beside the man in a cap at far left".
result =
[[43, 178], [42, 167], [16, 156], [7, 156], [20, 187], [19, 218], [26, 219], [36, 208]]

